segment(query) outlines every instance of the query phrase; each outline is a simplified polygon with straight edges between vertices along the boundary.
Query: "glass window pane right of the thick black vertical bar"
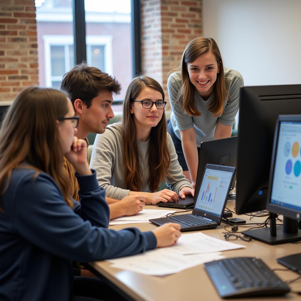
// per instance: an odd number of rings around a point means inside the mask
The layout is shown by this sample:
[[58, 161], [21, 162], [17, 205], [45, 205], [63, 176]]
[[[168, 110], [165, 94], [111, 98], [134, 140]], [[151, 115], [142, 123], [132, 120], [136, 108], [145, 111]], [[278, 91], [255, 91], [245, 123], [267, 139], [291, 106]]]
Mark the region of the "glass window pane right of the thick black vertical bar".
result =
[[[87, 61], [116, 77], [122, 90], [114, 99], [123, 100], [132, 80], [131, 1], [85, 0], [85, 20], [86, 42], [91, 46], [91, 62], [88, 53]], [[102, 50], [99, 46], [103, 47]], [[95, 53], [97, 49], [99, 53]]]

